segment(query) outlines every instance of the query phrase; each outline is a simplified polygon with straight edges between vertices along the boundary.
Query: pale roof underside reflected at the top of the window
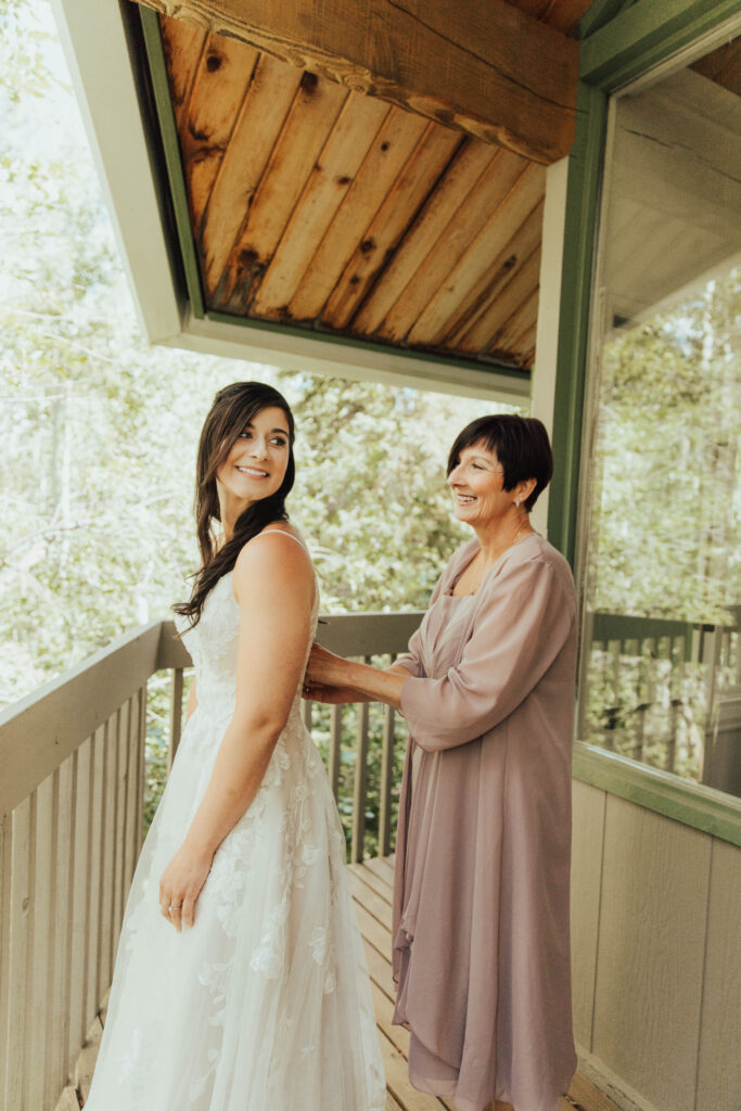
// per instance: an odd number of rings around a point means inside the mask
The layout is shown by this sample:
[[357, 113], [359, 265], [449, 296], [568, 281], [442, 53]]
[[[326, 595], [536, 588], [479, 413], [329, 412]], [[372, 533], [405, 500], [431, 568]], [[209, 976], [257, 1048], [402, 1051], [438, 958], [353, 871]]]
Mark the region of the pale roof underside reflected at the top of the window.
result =
[[617, 322], [632, 324], [741, 256], [739, 133], [741, 98], [699, 66], [621, 99], [607, 253]]

